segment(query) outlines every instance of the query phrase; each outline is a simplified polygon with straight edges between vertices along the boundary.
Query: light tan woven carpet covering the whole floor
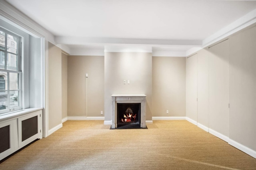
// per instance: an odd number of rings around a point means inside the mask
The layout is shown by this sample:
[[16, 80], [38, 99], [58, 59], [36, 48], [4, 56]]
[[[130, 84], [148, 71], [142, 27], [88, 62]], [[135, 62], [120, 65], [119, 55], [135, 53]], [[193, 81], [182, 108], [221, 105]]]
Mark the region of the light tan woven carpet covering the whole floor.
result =
[[66, 121], [0, 169], [256, 169], [255, 158], [188, 121], [154, 121], [147, 127], [110, 130], [103, 121]]

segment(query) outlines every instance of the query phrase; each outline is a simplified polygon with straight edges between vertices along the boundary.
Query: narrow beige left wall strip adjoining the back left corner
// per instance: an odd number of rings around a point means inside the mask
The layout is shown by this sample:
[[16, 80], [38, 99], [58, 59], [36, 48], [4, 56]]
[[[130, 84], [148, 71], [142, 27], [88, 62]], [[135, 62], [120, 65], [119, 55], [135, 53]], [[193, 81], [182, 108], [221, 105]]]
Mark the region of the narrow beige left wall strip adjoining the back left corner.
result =
[[62, 64], [62, 119], [68, 116], [68, 56], [61, 53]]

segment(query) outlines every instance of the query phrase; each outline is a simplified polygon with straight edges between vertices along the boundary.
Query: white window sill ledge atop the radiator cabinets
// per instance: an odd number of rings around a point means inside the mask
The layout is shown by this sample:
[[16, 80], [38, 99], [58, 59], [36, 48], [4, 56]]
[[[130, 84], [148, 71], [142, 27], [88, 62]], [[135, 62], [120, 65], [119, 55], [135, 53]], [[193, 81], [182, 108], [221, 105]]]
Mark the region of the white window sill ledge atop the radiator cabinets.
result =
[[3, 121], [5, 119], [11, 119], [13, 117], [25, 115], [27, 113], [31, 113], [31, 112], [42, 110], [42, 109], [43, 109], [42, 107], [39, 107], [39, 108], [28, 108], [28, 109], [22, 109], [22, 110], [17, 110], [17, 111], [9, 112], [9, 113], [3, 113], [3, 114], [0, 115], [0, 121]]

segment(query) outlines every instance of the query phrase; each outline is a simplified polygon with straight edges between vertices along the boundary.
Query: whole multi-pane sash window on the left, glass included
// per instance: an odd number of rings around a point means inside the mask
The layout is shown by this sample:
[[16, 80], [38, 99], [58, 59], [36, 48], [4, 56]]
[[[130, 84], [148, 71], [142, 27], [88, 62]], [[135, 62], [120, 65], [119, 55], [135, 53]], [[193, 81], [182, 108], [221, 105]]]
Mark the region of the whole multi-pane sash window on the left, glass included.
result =
[[20, 39], [0, 28], [0, 114], [22, 109]]

